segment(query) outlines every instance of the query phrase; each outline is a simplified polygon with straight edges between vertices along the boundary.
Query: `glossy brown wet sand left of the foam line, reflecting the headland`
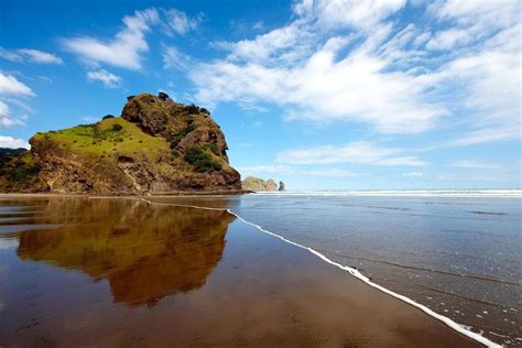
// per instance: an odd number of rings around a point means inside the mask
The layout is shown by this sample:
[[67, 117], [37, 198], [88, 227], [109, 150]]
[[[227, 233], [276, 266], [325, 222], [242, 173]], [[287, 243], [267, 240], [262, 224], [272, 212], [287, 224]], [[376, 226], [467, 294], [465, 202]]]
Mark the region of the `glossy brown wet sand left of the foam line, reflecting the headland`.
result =
[[0, 199], [0, 346], [476, 347], [226, 211]]

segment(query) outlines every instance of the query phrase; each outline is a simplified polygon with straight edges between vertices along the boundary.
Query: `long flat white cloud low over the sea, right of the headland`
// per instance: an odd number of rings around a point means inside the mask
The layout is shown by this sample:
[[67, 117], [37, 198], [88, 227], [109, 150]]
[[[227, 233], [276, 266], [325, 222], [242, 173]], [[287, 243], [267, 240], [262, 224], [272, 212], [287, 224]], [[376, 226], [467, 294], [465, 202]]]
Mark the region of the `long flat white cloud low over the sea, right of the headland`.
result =
[[358, 141], [344, 145], [325, 145], [303, 150], [286, 150], [278, 155], [279, 163], [334, 164], [351, 163], [381, 166], [422, 166], [428, 163], [402, 150], [384, 148], [372, 142]]

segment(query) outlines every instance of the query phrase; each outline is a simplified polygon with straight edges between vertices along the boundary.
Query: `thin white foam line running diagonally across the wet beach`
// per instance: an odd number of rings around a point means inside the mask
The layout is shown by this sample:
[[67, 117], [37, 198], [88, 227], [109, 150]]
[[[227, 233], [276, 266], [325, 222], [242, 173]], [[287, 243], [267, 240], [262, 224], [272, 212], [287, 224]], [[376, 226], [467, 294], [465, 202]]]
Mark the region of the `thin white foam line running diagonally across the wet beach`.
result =
[[262, 228], [261, 226], [257, 225], [257, 224], [253, 224], [253, 222], [250, 222], [248, 220], [246, 220], [244, 218], [242, 218], [240, 215], [233, 213], [232, 210], [230, 209], [225, 209], [225, 208], [211, 208], [211, 207], [202, 207], [202, 206], [193, 206], [193, 205], [181, 205], [181, 204], [173, 204], [173, 203], [160, 203], [160, 202], [153, 202], [153, 200], [149, 200], [146, 198], [143, 198], [143, 197], [101, 197], [101, 196], [98, 196], [98, 197], [94, 197], [94, 196], [89, 196], [89, 199], [131, 199], [131, 200], [141, 200], [141, 202], [145, 202], [150, 205], [157, 205], [157, 206], [171, 206], [171, 207], [182, 207], [182, 208], [194, 208], [194, 209], [204, 209], [204, 210], [217, 210], [217, 211], [227, 211], [228, 214], [235, 216], [236, 218], [238, 218], [241, 222], [243, 224], [247, 224], [247, 225], [250, 225], [254, 228], [257, 228], [258, 230], [260, 230], [261, 232], [263, 233], [267, 233], [267, 235], [270, 235], [270, 236], [273, 236], [273, 237], [276, 237], [279, 239], [281, 239], [282, 241], [286, 242], [286, 243], [290, 243], [292, 246], [295, 246], [297, 248], [301, 248], [301, 249], [304, 249], [304, 250], [307, 250], [308, 252], [311, 252], [312, 254], [316, 255], [317, 258], [322, 259], [323, 261], [326, 261], [328, 262], [329, 264], [333, 264], [339, 269], [341, 269], [342, 271], [346, 271], [348, 273], [350, 273], [351, 275], [354, 275], [355, 278], [357, 278], [358, 280], [365, 282], [366, 284], [370, 285], [371, 287], [374, 287], [392, 297], [395, 297], [398, 300], [401, 300], [405, 303], [407, 303], [409, 305], [411, 306], [414, 306], [418, 309], [421, 309], [422, 312], [424, 312], [425, 314], [429, 315], [431, 317], [435, 318], [435, 319], [438, 319], [439, 322], [443, 322], [444, 324], [446, 324], [446, 326], [450, 327], [452, 329], [456, 330], [457, 333], [468, 337], [468, 338], [471, 338], [476, 341], [478, 341], [479, 344], [482, 344], [485, 345], [486, 347], [490, 347], [490, 348], [502, 348], [503, 346], [497, 344], [497, 342], [493, 342], [492, 340], [490, 340], [489, 338], [487, 337], [483, 337], [482, 335], [480, 334], [477, 334], [477, 333], [474, 333], [471, 331], [470, 329], [467, 329], [466, 327], [464, 327], [463, 325], [454, 322], [453, 319], [444, 316], [444, 315], [441, 315], [432, 309], [429, 309], [428, 307], [413, 301], [412, 298], [410, 297], [406, 297], [404, 295], [401, 295], [401, 294], [398, 294], [384, 286], [381, 286], [377, 283], [373, 283], [368, 276], [363, 275], [361, 272], [359, 272], [357, 269], [354, 269], [351, 267], [348, 267], [348, 265], [342, 265], [338, 262], [335, 262], [330, 259], [328, 259], [326, 255], [324, 255], [323, 253], [309, 248], [309, 247], [305, 247], [305, 246], [302, 246], [300, 243], [296, 243], [295, 241], [292, 241], [290, 239], [286, 239], [284, 238], [283, 236], [280, 236], [278, 233], [274, 233], [274, 232], [271, 232], [269, 230], [265, 230], [264, 228]]

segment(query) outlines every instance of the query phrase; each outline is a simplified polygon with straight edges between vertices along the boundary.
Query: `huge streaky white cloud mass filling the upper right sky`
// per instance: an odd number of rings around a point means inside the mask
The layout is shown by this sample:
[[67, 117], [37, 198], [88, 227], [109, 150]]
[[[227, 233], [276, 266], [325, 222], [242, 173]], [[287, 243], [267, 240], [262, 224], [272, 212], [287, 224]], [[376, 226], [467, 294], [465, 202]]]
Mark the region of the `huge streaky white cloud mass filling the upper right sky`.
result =
[[296, 1], [289, 24], [214, 44], [226, 56], [189, 73], [196, 99], [270, 102], [287, 120], [348, 120], [382, 133], [429, 131], [457, 118], [463, 133], [516, 126], [516, 1], [437, 1], [425, 8], [433, 20], [416, 25], [396, 21], [404, 6]]

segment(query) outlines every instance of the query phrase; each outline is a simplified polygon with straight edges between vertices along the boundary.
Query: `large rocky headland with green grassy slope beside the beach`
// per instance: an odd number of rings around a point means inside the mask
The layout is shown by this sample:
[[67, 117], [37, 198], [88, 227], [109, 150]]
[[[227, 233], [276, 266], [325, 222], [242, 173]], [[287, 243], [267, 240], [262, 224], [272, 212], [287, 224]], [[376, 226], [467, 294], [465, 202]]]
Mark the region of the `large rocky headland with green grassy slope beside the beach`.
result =
[[128, 97], [121, 117], [36, 133], [0, 152], [0, 192], [175, 194], [235, 192], [239, 173], [210, 113], [166, 94]]

